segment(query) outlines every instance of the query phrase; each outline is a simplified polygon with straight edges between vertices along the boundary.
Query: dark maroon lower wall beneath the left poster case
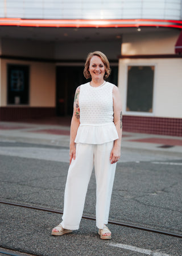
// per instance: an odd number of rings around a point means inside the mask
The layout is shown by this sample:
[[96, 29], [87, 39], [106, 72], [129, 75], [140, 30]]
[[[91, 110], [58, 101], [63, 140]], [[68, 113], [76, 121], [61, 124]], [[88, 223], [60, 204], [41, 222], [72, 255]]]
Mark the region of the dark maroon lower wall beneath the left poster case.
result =
[[55, 117], [55, 107], [0, 107], [0, 121]]

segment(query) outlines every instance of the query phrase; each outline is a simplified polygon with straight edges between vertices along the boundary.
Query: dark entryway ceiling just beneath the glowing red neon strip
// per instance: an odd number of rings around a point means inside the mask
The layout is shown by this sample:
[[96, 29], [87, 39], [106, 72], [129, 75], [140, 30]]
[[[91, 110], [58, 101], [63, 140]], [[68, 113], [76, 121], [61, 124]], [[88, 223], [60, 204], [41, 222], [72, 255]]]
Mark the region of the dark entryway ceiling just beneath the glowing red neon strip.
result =
[[[121, 41], [127, 33], [160, 33], [167, 27], [21, 27], [0, 26], [0, 38], [30, 39], [48, 42]], [[171, 29], [174, 30], [174, 29]]]

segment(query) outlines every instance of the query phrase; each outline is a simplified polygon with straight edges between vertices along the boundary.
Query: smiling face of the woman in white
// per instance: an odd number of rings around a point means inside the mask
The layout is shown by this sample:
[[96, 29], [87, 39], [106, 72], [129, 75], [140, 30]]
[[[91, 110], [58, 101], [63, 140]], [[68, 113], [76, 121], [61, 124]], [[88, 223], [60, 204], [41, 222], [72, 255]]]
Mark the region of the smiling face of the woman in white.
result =
[[100, 57], [93, 56], [90, 59], [89, 72], [92, 79], [104, 79], [105, 65]]

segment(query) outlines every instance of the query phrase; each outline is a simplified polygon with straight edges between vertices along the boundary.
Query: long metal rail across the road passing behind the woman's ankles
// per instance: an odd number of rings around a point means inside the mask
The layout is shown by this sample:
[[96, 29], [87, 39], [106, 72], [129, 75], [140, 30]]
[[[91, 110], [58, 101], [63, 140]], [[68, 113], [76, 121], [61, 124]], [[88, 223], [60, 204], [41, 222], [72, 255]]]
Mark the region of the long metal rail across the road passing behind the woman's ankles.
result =
[[[30, 205], [23, 205], [21, 203], [11, 203], [11, 202], [5, 202], [5, 201], [0, 201], [0, 203], [3, 203], [5, 205], [13, 205], [13, 206], [24, 207], [24, 208], [28, 208], [28, 209], [47, 211], [49, 213], [63, 214], [63, 211], [51, 210], [51, 209], [47, 209], [47, 208], [39, 207], [39, 206], [35, 207], [35, 206], [30, 206]], [[87, 216], [87, 215], [82, 215], [82, 218], [83, 219], [90, 219], [92, 221], [96, 221], [96, 218], [90, 217], [90, 216]], [[138, 230], [148, 231], [148, 232], [152, 232], [152, 233], [169, 235], [171, 237], [182, 238], [182, 234], [173, 233], [171, 231], [165, 231], [165, 230], [160, 230], [160, 229], [151, 229], [151, 228], [140, 226], [140, 225], [134, 225], [134, 224], [125, 223], [125, 222], [118, 222], [118, 221], [108, 221], [108, 223], [113, 224], [113, 225], [118, 225], [118, 226], [130, 227], [131, 229], [138, 229]]]

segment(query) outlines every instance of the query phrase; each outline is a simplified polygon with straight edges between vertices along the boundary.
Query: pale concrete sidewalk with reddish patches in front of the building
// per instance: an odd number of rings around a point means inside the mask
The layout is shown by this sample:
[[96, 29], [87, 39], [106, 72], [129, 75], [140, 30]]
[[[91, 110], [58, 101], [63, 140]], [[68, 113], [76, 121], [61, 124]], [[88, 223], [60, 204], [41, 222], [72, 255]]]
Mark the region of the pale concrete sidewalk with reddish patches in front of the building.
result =
[[[0, 122], [0, 139], [69, 147], [70, 122], [70, 118]], [[123, 131], [122, 147], [181, 154], [182, 137]]]

